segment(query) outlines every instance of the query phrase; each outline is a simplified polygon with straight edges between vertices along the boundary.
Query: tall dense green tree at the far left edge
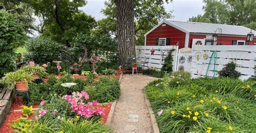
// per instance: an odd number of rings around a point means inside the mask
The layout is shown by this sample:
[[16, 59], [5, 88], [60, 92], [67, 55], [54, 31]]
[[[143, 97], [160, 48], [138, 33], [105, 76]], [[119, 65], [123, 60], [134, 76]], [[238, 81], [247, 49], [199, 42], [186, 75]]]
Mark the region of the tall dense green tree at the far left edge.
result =
[[15, 49], [23, 45], [26, 35], [14, 14], [0, 10], [0, 16], [0, 77], [3, 77], [4, 73], [15, 70]]

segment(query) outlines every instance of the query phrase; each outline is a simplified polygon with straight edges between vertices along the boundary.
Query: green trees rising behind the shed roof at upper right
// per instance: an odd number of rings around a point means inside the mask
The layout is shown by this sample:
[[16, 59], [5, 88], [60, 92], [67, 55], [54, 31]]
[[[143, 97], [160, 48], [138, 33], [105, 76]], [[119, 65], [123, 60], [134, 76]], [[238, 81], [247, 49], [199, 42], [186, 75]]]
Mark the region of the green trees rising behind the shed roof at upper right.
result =
[[204, 23], [244, 25], [255, 29], [256, 1], [254, 0], [204, 0], [203, 16], [189, 18], [188, 21]]

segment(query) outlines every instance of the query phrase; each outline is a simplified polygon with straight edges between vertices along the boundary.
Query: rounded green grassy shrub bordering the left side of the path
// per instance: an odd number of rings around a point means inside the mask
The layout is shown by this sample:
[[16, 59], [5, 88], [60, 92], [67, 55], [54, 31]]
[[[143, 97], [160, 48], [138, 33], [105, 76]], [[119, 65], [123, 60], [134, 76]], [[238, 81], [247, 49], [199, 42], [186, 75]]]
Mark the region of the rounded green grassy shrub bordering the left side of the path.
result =
[[102, 76], [96, 83], [96, 100], [99, 102], [110, 102], [120, 96], [120, 84], [116, 78]]

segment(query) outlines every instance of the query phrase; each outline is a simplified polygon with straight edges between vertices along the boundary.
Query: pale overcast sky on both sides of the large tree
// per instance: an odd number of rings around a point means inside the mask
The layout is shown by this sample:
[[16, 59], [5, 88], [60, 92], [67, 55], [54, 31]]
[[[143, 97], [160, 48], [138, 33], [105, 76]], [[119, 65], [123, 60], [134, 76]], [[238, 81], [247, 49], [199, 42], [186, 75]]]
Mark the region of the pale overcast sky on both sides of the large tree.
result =
[[[80, 8], [86, 14], [95, 17], [96, 20], [105, 16], [100, 13], [104, 9], [105, 0], [87, 0], [87, 4]], [[166, 11], [173, 10], [173, 20], [187, 21], [188, 18], [203, 14], [203, 0], [173, 0], [172, 3], [165, 4]]]

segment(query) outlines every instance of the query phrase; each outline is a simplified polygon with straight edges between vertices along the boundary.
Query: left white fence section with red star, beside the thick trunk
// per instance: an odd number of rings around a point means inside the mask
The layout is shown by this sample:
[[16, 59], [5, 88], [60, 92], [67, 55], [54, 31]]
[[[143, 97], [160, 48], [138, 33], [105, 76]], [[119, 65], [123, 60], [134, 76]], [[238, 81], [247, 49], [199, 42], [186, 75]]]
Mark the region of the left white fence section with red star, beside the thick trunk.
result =
[[[154, 49], [154, 55], [151, 55], [151, 49]], [[163, 66], [164, 58], [170, 50], [173, 56], [173, 70], [177, 68], [177, 55], [179, 46], [136, 46], [136, 57], [138, 61], [145, 61], [145, 57], [149, 57], [149, 68], [160, 69]], [[138, 62], [138, 65], [147, 69], [147, 64]]]

